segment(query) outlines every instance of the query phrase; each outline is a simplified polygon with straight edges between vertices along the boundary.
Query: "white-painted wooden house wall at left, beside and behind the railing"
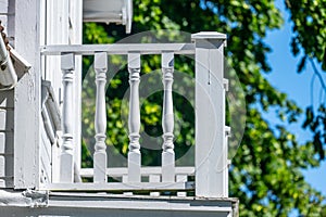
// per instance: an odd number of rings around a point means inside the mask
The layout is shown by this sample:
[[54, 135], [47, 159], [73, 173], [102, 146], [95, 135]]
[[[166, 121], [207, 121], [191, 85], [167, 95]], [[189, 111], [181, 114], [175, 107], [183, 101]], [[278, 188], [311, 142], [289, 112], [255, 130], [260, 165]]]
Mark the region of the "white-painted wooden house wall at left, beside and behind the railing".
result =
[[[54, 98], [61, 102], [62, 73], [60, 59], [41, 59], [39, 47], [82, 43], [82, 0], [0, 0], [0, 20], [10, 42], [33, 66], [15, 90], [0, 92], [0, 187], [37, 188], [39, 180], [58, 180], [51, 177], [50, 163], [59, 169], [55, 161], [60, 151], [47, 138], [40, 115], [41, 80], [51, 81]], [[80, 59], [76, 61], [76, 72], [79, 82], [74, 88], [80, 90]], [[76, 91], [74, 99], [80, 99], [79, 93]], [[74, 111], [80, 117], [80, 102], [75, 101]], [[80, 125], [75, 126], [75, 138], [80, 138]], [[80, 148], [79, 141], [75, 142]], [[80, 149], [75, 152], [80, 167]]]

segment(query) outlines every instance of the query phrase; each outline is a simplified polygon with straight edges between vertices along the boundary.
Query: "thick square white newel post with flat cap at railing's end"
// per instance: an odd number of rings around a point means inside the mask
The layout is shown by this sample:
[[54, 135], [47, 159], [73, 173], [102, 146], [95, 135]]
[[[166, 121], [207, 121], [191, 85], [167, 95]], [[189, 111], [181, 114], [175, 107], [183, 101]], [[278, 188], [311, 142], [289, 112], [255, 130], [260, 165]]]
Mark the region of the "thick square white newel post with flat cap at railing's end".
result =
[[223, 85], [226, 35], [198, 33], [191, 38], [196, 44], [196, 195], [227, 197]]

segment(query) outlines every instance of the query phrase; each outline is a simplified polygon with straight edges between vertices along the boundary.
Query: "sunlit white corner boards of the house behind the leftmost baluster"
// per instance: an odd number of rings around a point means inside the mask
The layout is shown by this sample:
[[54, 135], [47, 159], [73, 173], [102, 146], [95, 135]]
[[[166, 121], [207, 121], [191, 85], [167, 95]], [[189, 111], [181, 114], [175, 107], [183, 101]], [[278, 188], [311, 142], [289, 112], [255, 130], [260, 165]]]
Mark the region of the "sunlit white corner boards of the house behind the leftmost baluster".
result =
[[[82, 44], [83, 34], [83, 1], [82, 0], [42, 0], [43, 2], [43, 15], [45, 20], [41, 25], [45, 26], [45, 41], [42, 44]], [[62, 73], [61, 73], [61, 60], [60, 56], [47, 56], [42, 60], [45, 68], [42, 69], [42, 78], [49, 80], [52, 84], [57, 102], [62, 107]], [[76, 82], [74, 89], [74, 115], [80, 119], [82, 107], [80, 107], [80, 91], [82, 91], [82, 59], [77, 58], [75, 62], [76, 66]], [[74, 119], [74, 117], [71, 117]], [[80, 168], [80, 125], [75, 125], [74, 128], [74, 151], [75, 151], [75, 163]], [[43, 143], [45, 144], [45, 143]], [[43, 146], [43, 149], [50, 149]], [[52, 146], [52, 165], [53, 167], [53, 181], [59, 181], [59, 168], [60, 168], [60, 150], [55, 150]]]

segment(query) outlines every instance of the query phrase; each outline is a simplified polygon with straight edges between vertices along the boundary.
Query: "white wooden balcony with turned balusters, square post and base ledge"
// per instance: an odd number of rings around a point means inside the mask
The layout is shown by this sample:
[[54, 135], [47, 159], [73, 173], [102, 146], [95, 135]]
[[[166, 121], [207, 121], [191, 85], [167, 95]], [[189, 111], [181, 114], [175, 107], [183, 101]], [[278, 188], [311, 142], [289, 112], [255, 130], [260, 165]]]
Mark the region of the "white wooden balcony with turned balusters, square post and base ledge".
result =
[[[189, 43], [41, 47], [41, 58], [59, 56], [57, 61], [60, 61], [62, 71], [62, 102], [59, 106], [51, 79], [43, 80], [40, 94], [41, 125], [40, 131], [36, 132], [41, 137], [40, 143], [36, 144], [38, 152], [34, 153], [34, 161], [27, 161], [27, 155], [15, 144], [13, 165], [17, 166], [13, 167], [13, 188], [0, 190], [3, 215], [26, 216], [27, 212], [34, 216], [237, 216], [238, 201], [228, 197], [229, 127], [225, 126], [227, 82], [223, 77], [224, 46], [225, 35], [200, 33], [192, 35], [192, 42]], [[110, 82], [106, 79], [110, 68], [108, 55], [117, 54], [127, 58], [129, 73], [126, 129], [129, 133], [129, 149], [125, 167], [109, 167], [108, 162], [112, 159], [108, 156], [105, 143], [105, 84]], [[161, 56], [163, 144], [162, 165], [149, 167], [141, 165], [139, 84], [140, 58], [153, 54]], [[78, 150], [82, 148], [76, 141], [80, 138], [74, 133], [75, 129], [82, 127], [79, 117], [75, 115], [75, 106], [80, 99], [74, 97], [80, 95], [74, 87], [82, 74], [76, 66], [76, 60], [82, 55], [95, 56], [96, 142], [89, 144], [95, 150], [92, 168], [79, 166]], [[176, 55], [195, 56], [195, 166], [176, 166], [175, 161], [172, 92]], [[26, 123], [15, 123], [15, 127], [26, 127]], [[28, 167], [25, 167], [22, 157], [34, 165], [36, 179], [25, 177]], [[30, 183], [34, 183], [34, 190], [29, 190]]]

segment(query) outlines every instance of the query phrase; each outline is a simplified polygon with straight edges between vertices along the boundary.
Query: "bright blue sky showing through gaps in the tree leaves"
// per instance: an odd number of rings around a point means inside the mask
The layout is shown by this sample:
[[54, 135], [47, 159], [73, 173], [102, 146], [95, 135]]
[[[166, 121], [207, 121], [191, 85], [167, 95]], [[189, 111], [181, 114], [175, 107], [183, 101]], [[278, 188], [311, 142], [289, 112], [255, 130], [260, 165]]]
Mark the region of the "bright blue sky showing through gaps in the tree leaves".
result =
[[[267, 35], [266, 42], [273, 49], [267, 58], [273, 68], [272, 73], [265, 75], [269, 82], [278, 90], [286, 92], [288, 97], [294, 100], [299, 106], [305, 107], [313, 102], [318, 103], [321, 86], [315, 79], [313, 91], [311, 91], [311, 80], [313, 71], [310, 65], [303, 73], [297, 74], [299, 58], [293, 58], [290, 50], [291, 25], [289, 14], [285, 11], [283, 0], [276, 0], [276, 7], [284, 14], [285, 25], [279, 30], [273, 30]], [[276, 122], [272, 114], [267, 115], [271, 123]], [[301, 122], [302, 123], [302, 122]], [[311, 133], [301, 129], [301, 124], [290, 126], [289, 129], [296, 133], [299, 141], [306, 141]], [[326, 195], [326, 163], [319, 168], [303, 170], [304, 177], [315, 189]]]

